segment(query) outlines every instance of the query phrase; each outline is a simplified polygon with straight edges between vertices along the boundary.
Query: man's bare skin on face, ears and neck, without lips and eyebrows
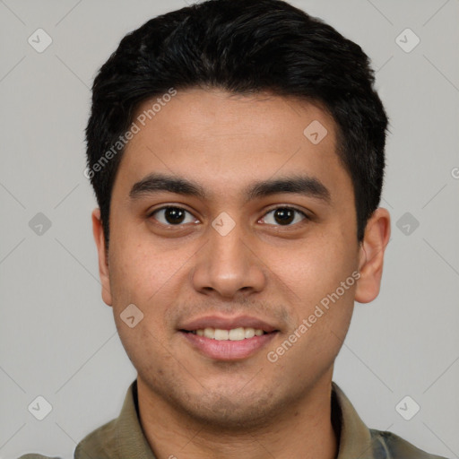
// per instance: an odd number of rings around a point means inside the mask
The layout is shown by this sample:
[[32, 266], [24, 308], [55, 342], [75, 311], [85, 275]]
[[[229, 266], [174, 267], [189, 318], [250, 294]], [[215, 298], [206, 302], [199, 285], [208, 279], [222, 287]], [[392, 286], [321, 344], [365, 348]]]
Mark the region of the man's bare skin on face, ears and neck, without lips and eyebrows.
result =
[[[139, 113], [150, 108], [147, 101]], [[318, 120], [328, 134], [303, 134]], [[335, 151], [333, 118], [305, 101], [220, 90], [178, 91], [126, 146], [113, 188], [108, 264], [98, 209], [92, 213], [102, 298], [138, 372], [140, 417], [159, 459], [330, 459], [333, 361], [351, 321], [354, 299], [377, 297], [390, 219], [377, 209], [362, 244], [351, 178]], [[160, 192], [129, 197], [134, 183], [163, 173], [199, 183], [208, 194]], [[299, 173], [319, 180], [330, 200], [278, 193], [247, 201], [254, 181]], [[171, 226], [159, 210], [179, 206]], [[287, 226], [276, 208], [300, 213]], [[227, 212], [226, 236], [212, 221]], [[359, 272], [359, 281], [317, 318], [280, 359], [275, 351], [327, 294]], [[120, 314], [143, 312], [130, 328]], [[246, 359], [210, 359], [178, 331], [196, 317], [239, 314], [279, 330]]]

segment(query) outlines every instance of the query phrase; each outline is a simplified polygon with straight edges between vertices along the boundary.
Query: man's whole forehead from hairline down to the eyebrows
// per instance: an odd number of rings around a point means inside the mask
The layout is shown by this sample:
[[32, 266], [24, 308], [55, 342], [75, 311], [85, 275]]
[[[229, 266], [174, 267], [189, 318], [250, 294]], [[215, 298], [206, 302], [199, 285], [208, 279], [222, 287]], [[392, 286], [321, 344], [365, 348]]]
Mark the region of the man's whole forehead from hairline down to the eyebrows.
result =
[[225, 194], [239, 193], [255, 178], [299, 172], [335, 181], [342, 176], [342, 186], [350, 186], [336, 154], [333, 117], [318, 104], [194, 89], [143, 102], [134, 123], [138, 132], [118, 173], [125, 188], [153, 172]]

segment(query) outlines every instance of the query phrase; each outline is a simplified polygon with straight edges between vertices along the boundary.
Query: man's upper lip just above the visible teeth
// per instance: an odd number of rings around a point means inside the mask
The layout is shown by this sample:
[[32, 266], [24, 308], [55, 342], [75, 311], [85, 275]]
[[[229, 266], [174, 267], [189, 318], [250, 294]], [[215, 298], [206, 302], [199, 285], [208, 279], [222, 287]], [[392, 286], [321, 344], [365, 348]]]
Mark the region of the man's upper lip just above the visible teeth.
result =
[[192, 332], [204, 328], [221, 328], [222, 330], [231, 330], [238, 327], [251, 327], [263, 330], [266, 333], [274, 332], [277, 328], [268, 324], [266, 321], [254, 316], [201, 316], [190, 320], [178, 327], [179, 330]]

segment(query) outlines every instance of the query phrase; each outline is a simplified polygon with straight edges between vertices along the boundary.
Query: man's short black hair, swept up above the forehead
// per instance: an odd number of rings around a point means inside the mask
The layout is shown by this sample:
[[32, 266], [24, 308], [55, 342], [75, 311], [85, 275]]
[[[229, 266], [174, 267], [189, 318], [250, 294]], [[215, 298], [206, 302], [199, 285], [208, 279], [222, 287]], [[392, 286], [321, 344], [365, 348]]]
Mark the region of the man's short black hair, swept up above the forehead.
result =
[[136, 109], [171, 89], [190, 88], [268, 91], [320, 103], [337, 125], [361, 241], [385, 168], [388, 119], [374, 82], [359, 45], [281, 0], [209, 0], [144, 23], [121, 40], [92, 86], [85, 175], [107, 247], [111, 193]]

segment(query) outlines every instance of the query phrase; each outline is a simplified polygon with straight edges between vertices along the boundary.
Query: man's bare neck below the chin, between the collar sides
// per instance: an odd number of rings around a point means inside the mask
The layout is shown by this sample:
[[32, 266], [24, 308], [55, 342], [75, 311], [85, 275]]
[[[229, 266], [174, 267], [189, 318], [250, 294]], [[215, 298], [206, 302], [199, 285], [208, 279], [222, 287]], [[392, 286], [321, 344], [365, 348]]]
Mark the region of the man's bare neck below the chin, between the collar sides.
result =
[[217, 429], [171, 407], [137, 379], [140, 420], [157, 459], [335, 459], [331, 375], [286, 407], [275, 423], [240, 431]]

